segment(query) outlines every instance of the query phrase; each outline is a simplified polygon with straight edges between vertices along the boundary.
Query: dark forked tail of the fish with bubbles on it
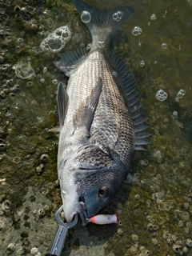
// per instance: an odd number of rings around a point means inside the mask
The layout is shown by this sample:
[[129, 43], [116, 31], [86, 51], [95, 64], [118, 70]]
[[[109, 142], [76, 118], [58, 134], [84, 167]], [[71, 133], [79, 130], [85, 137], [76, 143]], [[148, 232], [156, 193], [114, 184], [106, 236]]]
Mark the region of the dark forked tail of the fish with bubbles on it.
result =
[[78, 10], [82, 22], [89, 28], [94, 48], [104, 48], [110, 43], [110, 38], [134, 13], [133, 7], [119, 6], [106, 10], [99, 10], [81, 0], [74, 0], [74, 6]]

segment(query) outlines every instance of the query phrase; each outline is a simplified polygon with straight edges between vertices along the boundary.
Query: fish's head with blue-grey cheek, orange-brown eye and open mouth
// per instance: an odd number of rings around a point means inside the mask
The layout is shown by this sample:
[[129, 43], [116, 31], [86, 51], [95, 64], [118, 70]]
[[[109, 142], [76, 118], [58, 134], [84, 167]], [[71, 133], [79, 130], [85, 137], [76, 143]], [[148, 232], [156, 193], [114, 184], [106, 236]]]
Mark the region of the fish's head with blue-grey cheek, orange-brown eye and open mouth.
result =
[[60, 178], [66, 221], [71, 222], [78, 213], [82, 224], [88, 224], [86, 218], [102, 210], [126, 178], [121, 168], [117, 159], [98, 146], [83, 147], [72, 154]]

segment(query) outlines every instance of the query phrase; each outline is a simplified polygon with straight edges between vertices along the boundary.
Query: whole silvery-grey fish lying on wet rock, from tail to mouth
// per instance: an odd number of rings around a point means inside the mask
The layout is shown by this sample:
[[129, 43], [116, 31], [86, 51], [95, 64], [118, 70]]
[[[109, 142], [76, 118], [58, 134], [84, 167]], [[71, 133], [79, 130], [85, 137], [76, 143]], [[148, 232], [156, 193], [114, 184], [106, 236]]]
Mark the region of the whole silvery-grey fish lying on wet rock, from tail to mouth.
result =
[[130, 173], [134, 150], [149, 144], [136, 81], [111, 40], [134, 13], [131, 6], [99, 10], [73, 1], [92, 43], [54, 62], [69, 77], [58, 84], [58, 179], [66, 222], [82, 224], [113, 200]]

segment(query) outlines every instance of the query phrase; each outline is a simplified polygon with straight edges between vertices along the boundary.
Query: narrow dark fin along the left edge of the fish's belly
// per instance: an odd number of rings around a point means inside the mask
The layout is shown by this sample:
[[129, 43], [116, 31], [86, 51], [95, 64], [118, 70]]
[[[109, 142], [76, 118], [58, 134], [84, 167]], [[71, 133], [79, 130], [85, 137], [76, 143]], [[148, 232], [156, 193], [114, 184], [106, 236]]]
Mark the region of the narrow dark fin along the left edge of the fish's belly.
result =
[[68, 108], [68, 94], [66, 93], [66, 90], [62, 86], [62, 82], [59, 82], [58, 84], [58, 118], [60, 127], [64, 125], [64, 120], [66, 117], [66, 112]]

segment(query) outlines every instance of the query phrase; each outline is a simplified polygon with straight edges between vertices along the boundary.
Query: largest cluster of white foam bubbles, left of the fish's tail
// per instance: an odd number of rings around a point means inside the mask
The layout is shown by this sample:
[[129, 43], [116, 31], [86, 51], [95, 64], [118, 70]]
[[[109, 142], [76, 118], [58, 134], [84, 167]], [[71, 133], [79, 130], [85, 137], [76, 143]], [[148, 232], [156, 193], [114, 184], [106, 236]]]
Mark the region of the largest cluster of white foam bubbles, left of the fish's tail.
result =
[[68, 42], [70, 38], [71, 33], [69, 27], [60, 26], [41, 42], [40, 48], [42, 50], [49, 50], [51, 52], [58, 53], [64, 48], [66, 42]]

